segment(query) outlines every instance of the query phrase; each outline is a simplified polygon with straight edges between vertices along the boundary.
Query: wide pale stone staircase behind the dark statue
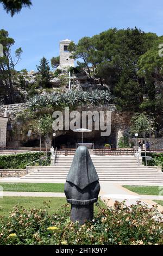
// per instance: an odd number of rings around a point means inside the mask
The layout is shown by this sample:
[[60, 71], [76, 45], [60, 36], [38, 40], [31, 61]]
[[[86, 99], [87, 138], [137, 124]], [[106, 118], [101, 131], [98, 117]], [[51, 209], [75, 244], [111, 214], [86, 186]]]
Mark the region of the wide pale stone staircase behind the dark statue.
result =
[[[139, 166], [135, 156], [95, 156], [91, 155], [93, 164], [97, 170], [100, 181], [110, 182], [136, 182], [163, 184], [163, 173], [158, 172], [156, 167]], [[70, 170], [72, 156], [58, 156], [56, 163], [45, 166], [21, 179], [56, 179], [65, 181]], [[53, 161], [52, 161], [53, 162]]]

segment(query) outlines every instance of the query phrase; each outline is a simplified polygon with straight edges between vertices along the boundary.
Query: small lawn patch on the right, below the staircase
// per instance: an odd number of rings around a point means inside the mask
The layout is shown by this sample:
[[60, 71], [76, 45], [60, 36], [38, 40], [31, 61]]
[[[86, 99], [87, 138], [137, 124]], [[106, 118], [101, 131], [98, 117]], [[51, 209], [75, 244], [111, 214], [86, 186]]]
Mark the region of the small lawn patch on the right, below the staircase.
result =
[[[153, 196], [159, 196], [159, 193], [162, 191], [163, 192], [163, 186], [123, 186], [127, 188], [130, 191], [133, 191], [137, 194], [149, 194]], [[161, 189], [159, 189], [161, 188]]]

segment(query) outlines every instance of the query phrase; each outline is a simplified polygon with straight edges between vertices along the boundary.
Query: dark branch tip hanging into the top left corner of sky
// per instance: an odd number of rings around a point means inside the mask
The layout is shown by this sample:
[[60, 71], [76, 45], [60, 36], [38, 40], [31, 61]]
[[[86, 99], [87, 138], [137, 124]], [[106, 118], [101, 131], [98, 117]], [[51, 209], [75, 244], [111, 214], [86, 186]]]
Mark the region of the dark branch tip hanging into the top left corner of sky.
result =
[[23, 7], [30, 7], [32, 2], [30, 0], [0, 0], [3, 4], [3, 8], [10, 13], [11, 16], [19, 13]]

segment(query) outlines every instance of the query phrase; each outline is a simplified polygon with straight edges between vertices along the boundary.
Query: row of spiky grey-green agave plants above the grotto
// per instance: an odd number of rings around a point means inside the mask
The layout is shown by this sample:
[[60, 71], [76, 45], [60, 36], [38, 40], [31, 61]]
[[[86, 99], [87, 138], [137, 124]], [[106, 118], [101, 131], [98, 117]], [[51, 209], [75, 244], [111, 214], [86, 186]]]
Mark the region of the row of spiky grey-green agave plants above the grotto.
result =
[[29, 109], [35, 111], [43, 108], [51, 108], [54, 106], [77, 106], [84, 104], [92, 104], [95, 106], [108, 105], [112, 100], [109, 90], [94, 90], [92, 92], [84, 92], [80, 90], [68, 90], [65, 93], [53, 93], [43, 96], [35, 96], [28, 101]]

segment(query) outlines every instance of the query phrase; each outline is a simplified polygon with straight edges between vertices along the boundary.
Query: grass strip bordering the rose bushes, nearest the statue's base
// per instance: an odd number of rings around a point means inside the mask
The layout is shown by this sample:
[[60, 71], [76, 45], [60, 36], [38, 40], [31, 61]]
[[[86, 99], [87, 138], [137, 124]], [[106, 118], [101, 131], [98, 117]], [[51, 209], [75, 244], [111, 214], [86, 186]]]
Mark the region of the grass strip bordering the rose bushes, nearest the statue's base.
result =
[[[66, 204], [66, 198], [62, 197], [3, 197], [0, 199], [0, 216], [8, 217], [14, 205], [24, 206], [26, 209], [42, 209], [43, 202], [49, 202], [48, 209], [49, 214], [54, 214], [57, 209], [61, 208], [62, 205]], [[99, 205], [104, 206], [105, 204], [98, 200]], [[97, 212], [97, 206], [95, 205], [95, 212]]]

